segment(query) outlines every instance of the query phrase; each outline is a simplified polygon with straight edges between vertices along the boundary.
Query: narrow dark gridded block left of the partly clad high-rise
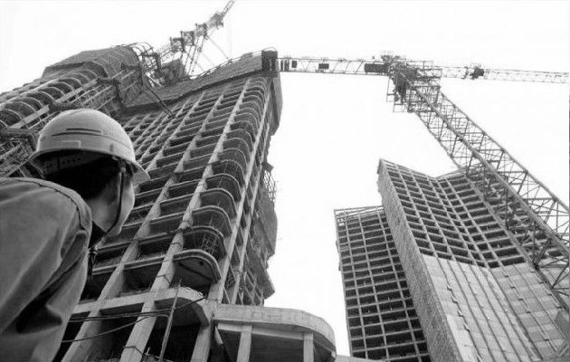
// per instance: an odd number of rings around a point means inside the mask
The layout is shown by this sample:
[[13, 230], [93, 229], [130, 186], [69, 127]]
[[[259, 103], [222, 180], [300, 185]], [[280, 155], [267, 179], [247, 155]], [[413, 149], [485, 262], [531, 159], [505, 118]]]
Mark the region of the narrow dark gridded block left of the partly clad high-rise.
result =
[[335, 216], [350, 355], [430, 361], [384, 207], [337, 210]]

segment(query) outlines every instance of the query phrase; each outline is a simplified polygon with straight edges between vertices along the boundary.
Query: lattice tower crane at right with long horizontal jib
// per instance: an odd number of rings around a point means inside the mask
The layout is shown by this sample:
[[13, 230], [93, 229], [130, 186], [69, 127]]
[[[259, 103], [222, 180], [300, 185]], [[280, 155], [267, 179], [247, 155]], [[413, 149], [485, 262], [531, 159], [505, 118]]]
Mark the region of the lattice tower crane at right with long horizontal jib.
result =
[[569, 212], [536, 176], [442, 92], [442, 78], [567, 83], [568, 73], [442, 67], [401, 56], [380, 59], [281, 57], [280, 71], [384, 75], [394, 110], [415, 113], [499, 215], [559, 304], [568, 310]]

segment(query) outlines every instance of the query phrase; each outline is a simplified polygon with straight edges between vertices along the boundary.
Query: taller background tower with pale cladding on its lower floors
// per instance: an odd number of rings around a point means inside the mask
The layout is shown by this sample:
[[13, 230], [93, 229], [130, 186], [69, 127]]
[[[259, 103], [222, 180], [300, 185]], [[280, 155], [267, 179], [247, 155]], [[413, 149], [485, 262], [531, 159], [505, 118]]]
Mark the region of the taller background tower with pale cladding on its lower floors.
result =
[[[532, 282], [516, 240], [464, 176], [433, 178], [385, 161], [378, 174], [434, 358], [533, 360], [565, 347], [556, 300]], [[534, 310], [521, 313], [521, 300]]]

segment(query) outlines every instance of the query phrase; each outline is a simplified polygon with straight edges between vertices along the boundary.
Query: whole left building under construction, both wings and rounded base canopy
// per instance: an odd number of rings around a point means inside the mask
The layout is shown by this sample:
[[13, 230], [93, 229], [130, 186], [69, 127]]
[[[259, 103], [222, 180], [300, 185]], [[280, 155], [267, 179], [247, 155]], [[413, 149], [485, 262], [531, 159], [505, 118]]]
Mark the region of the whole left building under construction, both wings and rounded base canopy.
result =
[[[0, 95], [5, 135], [33, 134], [61, 110], [109, 113], [151, 176], [122, 232], [100, 243], [56, 360], [337, 358], [325, 320], [262, 307], [277, 232], [266, 158], [281, 110], [276, 57], [245, 54], [151, 88], [138, 48], [120, 46], [81, 52]], [[2, 172], [33, 174], [14, 167], [33, 138], [15, 136], [3, 141]]]

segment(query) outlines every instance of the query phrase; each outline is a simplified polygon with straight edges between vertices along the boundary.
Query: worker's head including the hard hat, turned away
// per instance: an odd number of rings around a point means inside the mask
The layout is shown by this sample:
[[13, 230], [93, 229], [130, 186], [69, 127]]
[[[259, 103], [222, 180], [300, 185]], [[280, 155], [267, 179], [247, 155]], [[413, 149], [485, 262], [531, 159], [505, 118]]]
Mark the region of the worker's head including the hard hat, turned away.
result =
[[109, 235], [134, 205], [134, 186], [148, 179], [127, 132], [98, 110], [68, 110], [40, 132], [33, 164], [52, 182], [76, 191]]

